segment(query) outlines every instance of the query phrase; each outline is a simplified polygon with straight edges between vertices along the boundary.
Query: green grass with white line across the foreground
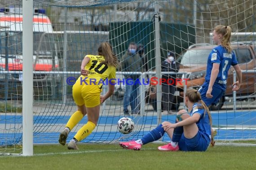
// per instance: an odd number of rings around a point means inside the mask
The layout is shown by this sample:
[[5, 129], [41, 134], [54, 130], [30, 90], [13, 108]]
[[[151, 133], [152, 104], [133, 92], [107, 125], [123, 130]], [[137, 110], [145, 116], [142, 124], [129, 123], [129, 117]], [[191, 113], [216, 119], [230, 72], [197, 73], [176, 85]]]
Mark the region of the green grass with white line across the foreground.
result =
[[206, 152], [160, 152], [146, 144], [142, 150], [118, 144], [35, 145], [34, 156], [0, 156], [1, 170], [255, 170], [256, 147], [216, 146]]

